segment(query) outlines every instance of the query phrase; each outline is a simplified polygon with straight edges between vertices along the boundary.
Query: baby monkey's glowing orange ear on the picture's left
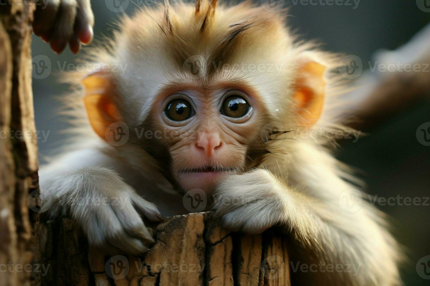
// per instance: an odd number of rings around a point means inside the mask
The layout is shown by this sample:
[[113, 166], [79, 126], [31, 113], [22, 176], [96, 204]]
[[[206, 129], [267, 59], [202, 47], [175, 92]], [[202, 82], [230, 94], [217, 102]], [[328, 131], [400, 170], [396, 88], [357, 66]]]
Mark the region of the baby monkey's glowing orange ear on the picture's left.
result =
[[94, 131], [104, 140], [109, 125], [121, 121], [120, 112], [114, 103], [115, 87], [106, 72], [95, 72], [83, 78], [83, 98], [89, 122]]

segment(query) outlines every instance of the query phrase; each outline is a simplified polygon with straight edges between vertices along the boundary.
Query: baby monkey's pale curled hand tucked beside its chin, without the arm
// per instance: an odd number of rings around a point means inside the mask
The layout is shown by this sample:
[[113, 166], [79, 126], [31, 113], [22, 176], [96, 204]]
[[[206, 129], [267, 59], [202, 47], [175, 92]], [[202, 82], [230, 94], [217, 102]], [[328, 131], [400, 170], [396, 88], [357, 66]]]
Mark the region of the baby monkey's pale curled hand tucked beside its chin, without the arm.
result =
[[267, 170], [231, 175], [214, 195], [215, 215], [225, 228], [250, 234], [281, 223], [286, 213], [286, 187]]

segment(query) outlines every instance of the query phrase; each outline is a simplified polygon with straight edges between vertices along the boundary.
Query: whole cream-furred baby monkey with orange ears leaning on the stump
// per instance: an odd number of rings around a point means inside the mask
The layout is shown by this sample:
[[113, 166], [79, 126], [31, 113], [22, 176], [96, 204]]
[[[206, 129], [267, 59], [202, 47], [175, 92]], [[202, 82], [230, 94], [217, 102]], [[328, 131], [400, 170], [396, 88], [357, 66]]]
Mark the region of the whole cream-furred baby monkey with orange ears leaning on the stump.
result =
[[293, 271], [293, 285], [400, 285], [384, 216], [328, 148], [344, 130], [338, 59], [269, 10], [198, 0], [124, 16], [74, 77], [80, 135], [40, 169], [50, 214], [91, 244], [145, 253], [143, 219], [186, 214], [184, 194], [203, 192], [227, 229], [280, 229], [291, 265], [343, 267]]

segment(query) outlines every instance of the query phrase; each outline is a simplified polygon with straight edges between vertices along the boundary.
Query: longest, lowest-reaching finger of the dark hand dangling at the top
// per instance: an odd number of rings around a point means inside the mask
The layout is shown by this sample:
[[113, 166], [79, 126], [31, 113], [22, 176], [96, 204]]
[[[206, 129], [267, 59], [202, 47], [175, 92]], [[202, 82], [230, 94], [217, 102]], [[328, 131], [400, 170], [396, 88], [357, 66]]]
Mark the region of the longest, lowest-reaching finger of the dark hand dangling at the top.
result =
[[49, 44], [53, 51], [60, 54], [73, 35], [73, 26], [76, 18], [76, 1], [61, 0], [55, 26]]

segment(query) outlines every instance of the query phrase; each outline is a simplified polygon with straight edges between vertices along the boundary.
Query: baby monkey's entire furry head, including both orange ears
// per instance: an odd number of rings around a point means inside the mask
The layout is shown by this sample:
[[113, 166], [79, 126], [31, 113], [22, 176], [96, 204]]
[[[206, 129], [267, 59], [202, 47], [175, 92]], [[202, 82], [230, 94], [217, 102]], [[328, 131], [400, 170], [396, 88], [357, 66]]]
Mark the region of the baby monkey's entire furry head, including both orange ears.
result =
[[83, 81], [95, 132], [107, 140], [112, 124], [140, 126], [124, 146], [142, 147], [132, 155], [151, 155], [184, 190], [210, 191], [231, 173], [264, 166], [264, 155], [280, 149], [268, 150], [270, 124], [278, 133], [312, 126], [324, 102], [325, 65], [294, 44], [283, 17], [249, 3], [215, 12], [215, 3], [124, 18], [112, 53], [94, 51], [123, 71]]

